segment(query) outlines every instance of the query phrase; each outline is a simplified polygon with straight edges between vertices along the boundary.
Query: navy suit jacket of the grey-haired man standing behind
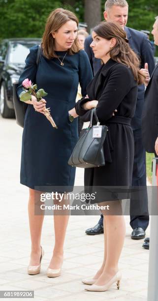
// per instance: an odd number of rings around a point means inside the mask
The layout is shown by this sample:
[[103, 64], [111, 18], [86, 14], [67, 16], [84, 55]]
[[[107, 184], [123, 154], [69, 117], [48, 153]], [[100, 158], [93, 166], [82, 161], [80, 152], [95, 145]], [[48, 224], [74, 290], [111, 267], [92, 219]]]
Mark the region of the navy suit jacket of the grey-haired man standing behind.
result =
[[[155, 67], [155, 61], [153, 56], [152, 47], [146, 34], [138, 30], [125, 27], [127, 38], [129, 39], [129, 46], [139, 56], [141, 60], [140, 68], [144, 68], [145, 63], [148, 63], [149, 72], [152, 73]], [[88, 54], [92, 70], [95, 73], [99, 69], [101, 62], [99, 59], [95, 59], [94, 53], [90, 44], [92, 43], [92, 36], [89, 35], [85, 40], [85, 51]], [[144, 104], [144, 85], [138, 87], [138, 96], [136, 103], [136, 110], [134, 118], [132, 119], [131, 126], [133, 130], [141, 128], [141, 116]]]

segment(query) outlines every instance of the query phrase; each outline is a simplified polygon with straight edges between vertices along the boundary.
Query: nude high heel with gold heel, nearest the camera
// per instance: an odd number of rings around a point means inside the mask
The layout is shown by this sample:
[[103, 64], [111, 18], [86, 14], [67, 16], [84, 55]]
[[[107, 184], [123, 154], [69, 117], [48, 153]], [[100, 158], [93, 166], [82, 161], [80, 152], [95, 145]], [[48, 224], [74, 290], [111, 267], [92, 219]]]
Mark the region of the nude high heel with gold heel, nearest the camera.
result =
[[116, 282], [117, 283], [117, 289], [120, 289], [120, 281], [121, 281], [122, 275], [121, 272], [118, 271], [115, 276], [105, 285], [95, 285], [93, 284], [90, 287], [85, 288], [86, 291], [91, 291], [91, 292], [105, 292], [107, 291], [111, 285]]

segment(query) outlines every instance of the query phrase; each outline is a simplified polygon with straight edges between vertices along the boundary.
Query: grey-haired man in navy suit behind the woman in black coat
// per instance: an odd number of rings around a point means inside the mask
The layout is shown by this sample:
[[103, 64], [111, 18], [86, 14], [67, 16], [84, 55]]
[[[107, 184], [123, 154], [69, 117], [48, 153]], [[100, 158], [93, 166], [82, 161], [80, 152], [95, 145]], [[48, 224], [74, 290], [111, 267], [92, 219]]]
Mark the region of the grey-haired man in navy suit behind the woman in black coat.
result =
[[[106, 21], [113, 21], [120, 24], [126, 31], [129, 40], [129, 46], [139, 56], [140, 68], [144, 68], [145, 63], [148, 63], [149, 73], [151, 74], [155, 61], [153, 51], [147, 36], [131, 28], [126, 27], [128, 17], [128, 3], [126, 0], [107, 0], [105, 2], [104, 19]], [[101, 62], [95, 59], [94, 53], [90, 44], [92, 43], [92, 36], [88, 36], [85, 40], [85, 51], [88, 54], [91, 62], [92, 70], [95, 73], [101, 66]], [[144, 85], [138, 88], [138, 97], [134, 118], [131, 121], [131, 126], [134, 135], [134, 163], [132, 174], [132, 186], [146, 186], [146, 153], [142, 145], [142, 131], [141, 131], [141, 116], [144, 104]], [[137, 201], [137, 202], [136, 202]], [[141, 208], [140, 214], [134, 214], [135, 208]], [[131, 233], [132, 239], [145, 238], [145, 230], [149, 225], [148, 212], [148, 196], [147, 190], [140, 195], [137, 200], [130, 199], [130, 226], [133, 231]], [[95, 227], [87, 229], [86, 233], [89, 235], [96, 235], [103, 233], [103, 216], [101, 215]]]

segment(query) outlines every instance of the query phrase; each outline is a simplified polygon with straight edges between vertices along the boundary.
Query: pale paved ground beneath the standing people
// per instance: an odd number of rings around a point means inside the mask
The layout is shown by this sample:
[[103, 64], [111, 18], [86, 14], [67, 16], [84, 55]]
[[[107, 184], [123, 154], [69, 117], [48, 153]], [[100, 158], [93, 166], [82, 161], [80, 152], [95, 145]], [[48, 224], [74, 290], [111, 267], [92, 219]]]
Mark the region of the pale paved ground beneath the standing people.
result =
[[[33, 130], [33, 129], [32, 129]], [[147, 300], [148, 256], [142, 240], [130, 239], [131, 228], [126, 216], [126, 240], [120, 259], [123, 273], [121, 288], [107, 292], [86, 292], [81, 279], [94, 275], [103, 258], [103, 235], [87, 236], [87, 227], [95, 225], [97, 216], [71, 216], [65, 241], [63, 273], [48, 278], [46, 269], [52, 254], [53, 217], [45, 216], [42, 246], [45, 255], [41, 273], [28, 275], [30, 254], [28, 226], [28, 189], [19, 184], [22, 129], [15, 120], [0, 118], [0, 290], [34, 290], [37, 301], [139, 301]], [[79, 169], [76, 184], [83, 184]], [[146, 232], [149, 236], [149, 228]], [[19, 300], [19, 299], [14, 299]], [[33, 300], [33, 299], [31, 299]]]

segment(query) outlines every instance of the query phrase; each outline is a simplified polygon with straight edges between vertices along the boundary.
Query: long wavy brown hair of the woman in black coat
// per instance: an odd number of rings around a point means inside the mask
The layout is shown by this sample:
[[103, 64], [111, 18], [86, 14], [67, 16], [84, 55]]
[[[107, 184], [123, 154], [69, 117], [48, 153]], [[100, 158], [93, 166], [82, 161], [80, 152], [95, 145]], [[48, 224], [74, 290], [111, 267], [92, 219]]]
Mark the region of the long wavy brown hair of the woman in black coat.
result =
[[139, 85], [143, 84], [145, 77], [139, 69], [140, 61], [128, 45], [125, 30], [114, 22], [103, 21], [94, 28], [94, 31], [107, 40], [116, 39], [115, 46], [109, 51], [110, 58], [131, 68], [135, 81]]

